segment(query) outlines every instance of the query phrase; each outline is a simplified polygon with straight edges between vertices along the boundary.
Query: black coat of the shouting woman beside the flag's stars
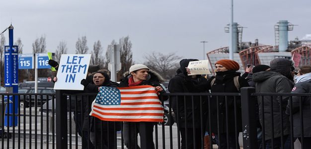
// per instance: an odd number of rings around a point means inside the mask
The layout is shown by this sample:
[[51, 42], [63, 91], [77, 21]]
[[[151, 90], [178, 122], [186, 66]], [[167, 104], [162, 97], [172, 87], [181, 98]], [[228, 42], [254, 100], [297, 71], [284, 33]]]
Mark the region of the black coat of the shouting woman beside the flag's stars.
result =
[[[107, 87], [118, 87], [115, 83], [111, 83], [109, 80], [109, 76], [105, 76], [105, 81], [101, 86], [107, 86]], [[93, 82], [87, 84], [87, 86], [84, 87], [84, 92], [86, 93], [98, 93], [99, 86], [96, 86]], [[91, 111], [91, 105], [94, 101], [96, 96], [88, 96], [88, 106], [84, 106], [85, 110], [83, 112], [83, 130], [87, 131], [88, 128], [90, 128], [90, 131], [119, 131], [121, 130], [121, 122], [110, 122], [110, 121], [101, 121], [100, 119], [89, 116], [89, 113]], [[83, 99], [83, 102], [87, 99]], [[88, 124], [88, 121], [90, 122]], [[88, 126], [89, 125], [89, 126]], [[107, 128], [108, 127], [108, 128]]]

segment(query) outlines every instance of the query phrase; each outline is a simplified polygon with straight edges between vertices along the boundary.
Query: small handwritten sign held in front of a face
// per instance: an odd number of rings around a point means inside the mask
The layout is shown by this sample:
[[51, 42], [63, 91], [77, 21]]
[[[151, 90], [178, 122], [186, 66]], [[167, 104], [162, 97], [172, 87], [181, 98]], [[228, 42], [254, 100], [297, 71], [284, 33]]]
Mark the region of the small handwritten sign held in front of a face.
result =
[[188, 69], [191, 74], [188, 75], [196, 75], [196, 74], [211, 74], [209, 69], [209, 61], [202, 60], [202, 61], [192, 61], [189, 62]]

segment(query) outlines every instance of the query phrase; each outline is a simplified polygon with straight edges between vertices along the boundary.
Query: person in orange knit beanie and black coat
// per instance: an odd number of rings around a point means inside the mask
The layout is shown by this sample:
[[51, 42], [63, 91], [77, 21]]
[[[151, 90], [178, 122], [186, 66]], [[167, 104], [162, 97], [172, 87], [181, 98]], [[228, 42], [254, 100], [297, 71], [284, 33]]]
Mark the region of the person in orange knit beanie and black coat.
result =
[[[219, 60], [215, 63], [215, 68], [216, 77], [210, 84], [212, 93], [234, 93], [239, 92], [241, 87], [248, 86], [246, 79], [236, 72], [239, 70], [239, 65], [235, 61]], [[233, 96], [212, 96], [210, 104], [211, 117], [209, 120], [213, 121], [210, 127], [212, 132], [215, 133], [215, 137], [219, 139], [219, 149], [239, 148], [238, 142], [236, 143], [238, 138], [235, 136], [238, 137], [239, 132], [242, 131], [240, 97], [236, 96], [234, 99]], [[218, 107], [212, 105], [218, 105]], [[226, 113], [228, 113], [227, 116]], [[236, 117], [234, 113], [236, 113]], [[228, 117], [228, 121], [226, 117]], [[227, 144], [227, 135], [229, 144]]]

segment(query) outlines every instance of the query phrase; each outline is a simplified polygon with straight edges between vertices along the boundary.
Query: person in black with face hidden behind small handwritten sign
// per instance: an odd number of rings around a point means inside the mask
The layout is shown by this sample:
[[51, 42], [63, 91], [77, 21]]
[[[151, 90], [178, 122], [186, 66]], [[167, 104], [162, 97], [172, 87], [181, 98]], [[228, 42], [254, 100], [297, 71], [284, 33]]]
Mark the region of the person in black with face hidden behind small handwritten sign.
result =
[[[207, 87], [198, 87], [207, 84], [205, 77], [202, 75], [188, 75], [186, 67], [191, 61], [198, 60], [183, 59], [179, 62], [180, 68], [176, 71], [177, 75], [170, 79], [168, 83], [168, 91], [170, 93], [207, 92]], [[205, 125], [204, 120], [201, 123], [201, 117], [203, 119], [206, 118], [207, 97], [201, 98], [202, 104], [200, 103], [200, 96], [193, 96], [193, 98], [192, 96], [170, 96], [170, 99], [174, 113], [178, 114], [177, 127], [181, 134], [181, 149], [201, 149], [201, 139], [203, 134], [205, 134], [205, 129], [201, 130], [200, 127], [202, 124], [203, 126]], [[200, 110], [203, 112], [201, 113]], [[210, 149], [209, 136], [205, 137], [205, 140], [206, 149]]]

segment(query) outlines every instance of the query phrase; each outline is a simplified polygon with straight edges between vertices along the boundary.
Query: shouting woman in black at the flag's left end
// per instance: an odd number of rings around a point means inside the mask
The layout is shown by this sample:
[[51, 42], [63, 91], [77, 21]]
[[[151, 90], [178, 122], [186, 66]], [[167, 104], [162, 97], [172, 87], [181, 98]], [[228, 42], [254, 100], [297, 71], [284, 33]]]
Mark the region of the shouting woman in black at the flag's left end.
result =
[[[108, 74], [96, 72], [92, 75], [92, 78], [91, 83], [87, 79], [81, 80], [81, 84], [84, 86], [84, 92], [97, 93], [100, 86], [118, 87], [110, 83]], [[89, 103], [92, 103], [94, 100], [94, 98], [88, 99], [90, 99]], [[95, 149], [115, 149], [117, 144], [116, 132], [121, 130], [121, 122], [101, 121], [96, 117], [89, 116], [91, 104], [86, 106], [85, 111], [87, 113], [84, 115], [84, 122], [89, 121], [90, 124], [88, 126], [87, 123], [83, 123], [83, 129], [90, 129], [90, 141], [95, 146]]]

